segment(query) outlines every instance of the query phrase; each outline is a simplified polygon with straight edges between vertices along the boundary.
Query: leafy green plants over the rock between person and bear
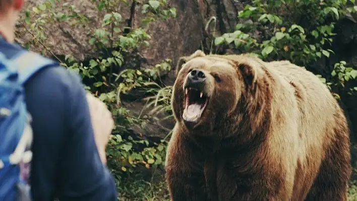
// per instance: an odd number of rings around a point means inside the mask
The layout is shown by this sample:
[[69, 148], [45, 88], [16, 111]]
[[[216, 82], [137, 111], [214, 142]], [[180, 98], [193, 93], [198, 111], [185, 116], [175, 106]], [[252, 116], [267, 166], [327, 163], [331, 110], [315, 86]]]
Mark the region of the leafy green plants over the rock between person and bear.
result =
[[[131, 115], [120, 97], [121, 94], [138, 90], [151, 94], [145, 100], [147, 108], [156, 106], [152, 113], [170, 111], [167, 101], [171, 94], [171, 87], [162, 85], [160, 75], [170, 70], [171, 60], [165, 59], [152, 68], [145, 69], [140, 69], [135, 63], [128, 61], [137, 59], [129, 55], [136, 55], [135, 52], [140, 47], [149, 46], [148, 39], [151, 37], [145, 32], [146, 25], [155, 20], [174, 18], [176, 10], [168, 7], [165, 0], [137, 3], [141, 7], [144, 18], [140, 26], [133, 28], [124, 22], [118, 10], [118, 5], [130, 9], [127, 1], [93, 0], [98, 11], [104, 13], [101, 26], [88, 33], [90, 37], [88, 42], [98, 52], [98, 57], [86, 62], [77, 61], [73, 55], [66, 55], [64, 60], [57, 57], [63, 66], [82, 77], [86, 90], [105, 102], [113, 114], [115, 128], [109, 139], [107, 159], [108, 167], [118, 183], [123, 176], [139, 173], [138, 166], [148, 169], [162, 168], [167, 144], [165, 140], [149, 142], [142, 135], [132, 136], [131, 127], [134, 125], [145, 127], [149, 117]], [[55, 12], [56, 6], [62, 6], [62, 12]], [[26, 44], [30, 49], [32, 45], [43, 44], [46, 40], [47, 33], [44, 28], [46, 24], [62, 22], [72, 27], [85, 26], [89, 23], [89, 19], [74, 5], [60, 4], [59, 1], [44, 1], [26, 11], [24, 22], [26, 29], [33, 36]], [[42, 53], [51, 51], [44, 45], [43, 47]], [[128, 63], [132, 65], [128, 66]]]

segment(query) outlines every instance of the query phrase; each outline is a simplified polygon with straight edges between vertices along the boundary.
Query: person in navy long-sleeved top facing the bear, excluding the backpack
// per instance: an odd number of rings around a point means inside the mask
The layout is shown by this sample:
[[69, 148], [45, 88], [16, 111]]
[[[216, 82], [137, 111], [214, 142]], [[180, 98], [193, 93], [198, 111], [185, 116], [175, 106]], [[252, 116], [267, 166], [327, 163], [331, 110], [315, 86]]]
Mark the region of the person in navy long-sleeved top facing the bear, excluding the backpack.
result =
[[[26, 51], [14, 44], [24, 1], [0, 0], [0, 52], [9, 59]], [[113, 126], [105, 104], [86, 94], [80, 77], [59, 65], [41, 69], [24, 88], [32, 116], [33, 200], [117, 200], [113, 176], [102, 163]]]

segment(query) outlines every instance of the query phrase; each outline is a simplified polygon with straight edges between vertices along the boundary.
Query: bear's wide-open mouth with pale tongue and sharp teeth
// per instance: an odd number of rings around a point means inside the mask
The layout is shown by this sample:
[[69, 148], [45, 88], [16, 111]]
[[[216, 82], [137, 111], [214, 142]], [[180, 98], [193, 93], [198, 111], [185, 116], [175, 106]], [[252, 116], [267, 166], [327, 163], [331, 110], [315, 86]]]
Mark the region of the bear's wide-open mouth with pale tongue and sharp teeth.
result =
[[207, 95], [195, 88], [185, 88], [185, 110], [183, 118], [198, 123], [208, 103]]

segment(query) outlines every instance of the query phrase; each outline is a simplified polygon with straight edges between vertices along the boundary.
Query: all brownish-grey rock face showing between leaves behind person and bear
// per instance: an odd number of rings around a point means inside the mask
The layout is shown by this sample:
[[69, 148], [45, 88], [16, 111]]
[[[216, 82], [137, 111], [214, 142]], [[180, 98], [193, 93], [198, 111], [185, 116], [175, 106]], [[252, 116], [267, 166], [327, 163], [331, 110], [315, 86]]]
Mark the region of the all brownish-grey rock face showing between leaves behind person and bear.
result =
[[[26, 7], [31, 9], [40, 1], [29, 0], [26, 2]], [[84, 60], [96, 56], [94, 48], [88, 43], [90, 36], [95, 29], [101, 27], [102, 19], [105, 12], [99, 12], [96, 5], [88, 0], [61, 1], [56, 4], [55, 12], [66, 13], [68, 9], [64, 9], [62, 4], [69, 3], [78, 9], [79, 13], [89, 19], [87, 26], [70, 25], [65, 22], [53, 22], [44, 25], [47, 39], [44, 45], [51, 49], [56, 55], [71, 54], [78, 60]], [[122, 15], [123, 22], [132, 22], [131, 26], [140, 26], [140, 20], [143, 18], [141, 14], [142, 8], [136, 4], [135, 9], [131, 11], [133, 1], [128, 1], [128, 5], [121, 4], [118, 6], [118, 13]], [[170, 1], [170, 6], [175, 7], [177, 17], [167, 21], [158, 20], [148, 25], [145, 31], [151, 35], [149, 41], [150, 46], [142, 48], [140, 54], [146, 58], [146, 65], [155, 65], [165, 58], [171, 58], [175, 62], [181, 55], [190, 54], [199, 48], [200, 42], [203, 39], [202, 18], [199, 15], [198, 7], [194, 1], [173, 0]], [[17, 41], [24, 43], [33, 38], [33, 36], [25, 29], [23, 18], [19, 20], [17, 26]], [[123, 23], [127, 26], [127, 23]], [[43, 49], [41, 44], [36, 44], [32, 49], [40, 52]], [[46, 56], [52, 56], [50, 52], [46, 52]], [[144, 63], [145, 66], [145, 63]]]

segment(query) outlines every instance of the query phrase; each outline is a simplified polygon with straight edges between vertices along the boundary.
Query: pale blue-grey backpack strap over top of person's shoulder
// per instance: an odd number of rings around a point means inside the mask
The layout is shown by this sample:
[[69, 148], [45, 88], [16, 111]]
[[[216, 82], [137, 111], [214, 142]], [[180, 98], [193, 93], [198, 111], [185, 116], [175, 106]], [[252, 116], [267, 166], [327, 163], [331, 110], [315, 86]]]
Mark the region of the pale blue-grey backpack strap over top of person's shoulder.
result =
[[17, 65], [19, 82], [21, 84], [25, 84], [26, 81], [39, 70], [45, 67], [59, 65], [58, 62], [32, 51], [23, 51], [13, 58], [12, 61]]

